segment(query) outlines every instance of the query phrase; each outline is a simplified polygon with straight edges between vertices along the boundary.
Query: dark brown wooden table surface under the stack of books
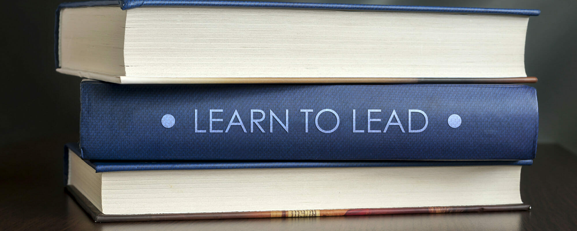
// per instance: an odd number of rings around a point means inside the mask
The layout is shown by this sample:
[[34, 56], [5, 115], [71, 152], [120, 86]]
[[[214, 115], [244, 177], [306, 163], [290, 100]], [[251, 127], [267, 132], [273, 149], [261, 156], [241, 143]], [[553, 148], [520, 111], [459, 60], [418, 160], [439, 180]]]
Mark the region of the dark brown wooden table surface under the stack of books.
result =
[[0, 230], [577, 230], [577, 156], [552, 144], [539, 145], [534, 164], [523, 166], [530, 211], [95, 223], [63, 190], [63, 143], [0, 150]]

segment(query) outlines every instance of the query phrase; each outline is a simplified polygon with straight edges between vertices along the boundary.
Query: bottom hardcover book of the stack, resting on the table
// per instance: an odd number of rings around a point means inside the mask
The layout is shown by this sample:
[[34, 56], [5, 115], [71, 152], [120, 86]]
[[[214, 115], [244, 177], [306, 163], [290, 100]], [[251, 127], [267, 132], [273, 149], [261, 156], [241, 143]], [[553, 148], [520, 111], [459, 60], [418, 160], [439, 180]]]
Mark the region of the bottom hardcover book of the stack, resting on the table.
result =
[[65, 149], [96, 222], [529, 210], [529, 161], [97, 162]]

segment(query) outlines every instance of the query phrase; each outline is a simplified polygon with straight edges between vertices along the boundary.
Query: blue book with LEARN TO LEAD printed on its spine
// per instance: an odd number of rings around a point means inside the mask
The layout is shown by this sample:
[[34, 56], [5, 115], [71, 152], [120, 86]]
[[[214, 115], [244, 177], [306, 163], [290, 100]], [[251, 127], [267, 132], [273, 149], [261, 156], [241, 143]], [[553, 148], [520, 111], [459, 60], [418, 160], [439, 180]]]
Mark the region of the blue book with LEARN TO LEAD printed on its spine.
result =
[[80, 148], [100, 160], [527, 160], [526, 85], [81, 83]]

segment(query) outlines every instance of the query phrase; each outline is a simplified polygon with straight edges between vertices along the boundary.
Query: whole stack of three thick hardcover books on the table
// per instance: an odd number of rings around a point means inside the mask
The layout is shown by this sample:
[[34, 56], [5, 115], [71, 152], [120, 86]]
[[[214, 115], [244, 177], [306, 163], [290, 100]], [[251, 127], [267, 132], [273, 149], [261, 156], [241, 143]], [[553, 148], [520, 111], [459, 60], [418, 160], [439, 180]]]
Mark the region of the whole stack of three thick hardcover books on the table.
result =
[[538, 14], [63, 3], [57, 71], [88, 78], [66, 188], [97, 222], [527, 210]]

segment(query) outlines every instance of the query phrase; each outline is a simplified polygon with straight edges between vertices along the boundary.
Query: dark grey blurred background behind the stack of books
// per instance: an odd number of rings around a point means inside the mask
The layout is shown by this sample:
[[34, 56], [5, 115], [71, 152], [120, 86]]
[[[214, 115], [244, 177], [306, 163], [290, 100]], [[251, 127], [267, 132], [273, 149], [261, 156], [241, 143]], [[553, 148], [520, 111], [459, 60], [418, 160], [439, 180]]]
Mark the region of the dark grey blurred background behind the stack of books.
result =
[[[55, 150], [78, 140], [80, 78], [54, 70], [54, 10], [60, 2], [3, 3], [0, 146], [51, 140], [47, 148]], [[526, 72], [539, 78], [530, 84], [538, 92], [539, 142], [577, 152], [577, 1], [310, 2], [541, 10], [529, 20], [525, 50]]]

